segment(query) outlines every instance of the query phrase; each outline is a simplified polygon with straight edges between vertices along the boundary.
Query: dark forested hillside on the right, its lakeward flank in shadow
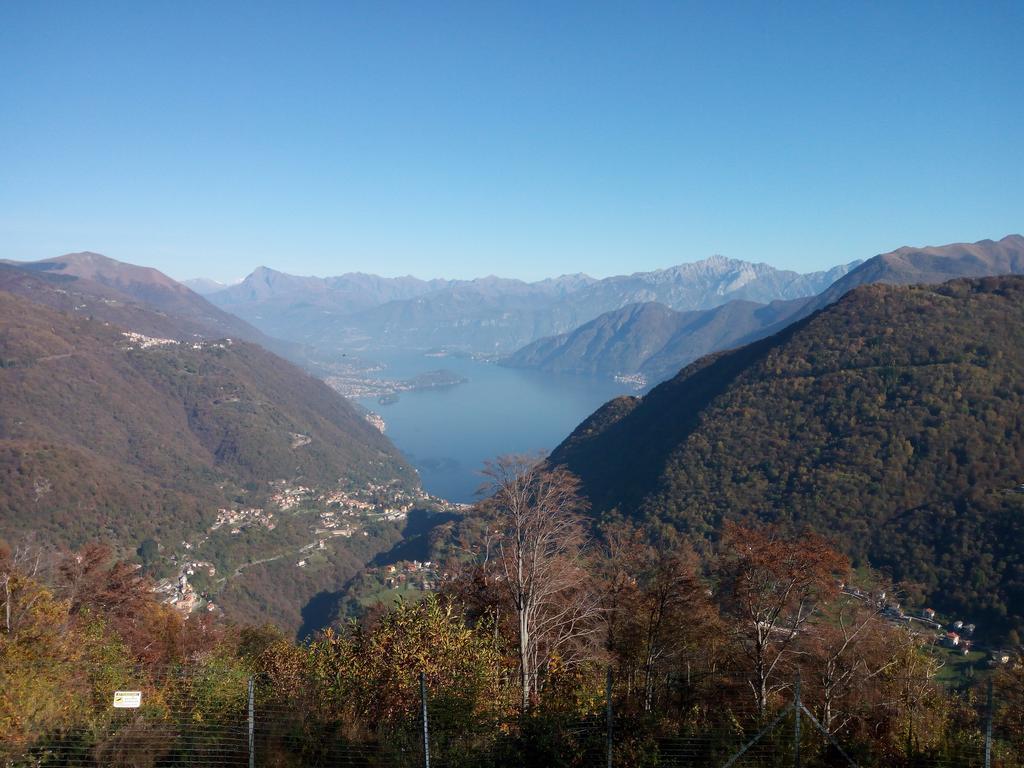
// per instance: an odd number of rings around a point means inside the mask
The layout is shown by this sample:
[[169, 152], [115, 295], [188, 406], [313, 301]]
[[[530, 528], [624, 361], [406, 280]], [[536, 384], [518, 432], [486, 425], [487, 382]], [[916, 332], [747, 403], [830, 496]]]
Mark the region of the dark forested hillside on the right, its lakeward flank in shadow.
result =
[[1024, 628], [1024, 278], [864, 286], [614, 400], [551, 456], [695, 540], [809, 525], [950, 611]]

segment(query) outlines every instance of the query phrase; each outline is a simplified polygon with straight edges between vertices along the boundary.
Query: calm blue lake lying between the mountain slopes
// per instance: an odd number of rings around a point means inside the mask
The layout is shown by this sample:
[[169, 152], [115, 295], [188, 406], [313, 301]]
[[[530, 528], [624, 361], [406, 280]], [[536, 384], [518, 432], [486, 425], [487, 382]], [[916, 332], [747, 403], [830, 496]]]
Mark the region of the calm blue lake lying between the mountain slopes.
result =
[[387, 368], [375, 378], [409, 379], [446, 369], [469, 381], [442, 389], [401, 392], [398, 401], [359, 402], [381, 415], [388, 437], [420, 472], [429, 494], [472, 502], [480, 468], [503, 454], [549, 452], [599, 406], [635, 394], [610, 379], [552, 376], [466, 357], [373, 355]]

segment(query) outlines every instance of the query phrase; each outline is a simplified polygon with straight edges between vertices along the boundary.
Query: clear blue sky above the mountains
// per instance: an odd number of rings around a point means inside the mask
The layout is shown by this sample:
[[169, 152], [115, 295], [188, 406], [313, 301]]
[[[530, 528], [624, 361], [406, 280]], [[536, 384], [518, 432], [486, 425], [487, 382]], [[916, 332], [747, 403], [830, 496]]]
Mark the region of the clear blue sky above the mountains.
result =
[[0, 257], [809, 270], [1024, 229], [1024, 3], [3, 2]]

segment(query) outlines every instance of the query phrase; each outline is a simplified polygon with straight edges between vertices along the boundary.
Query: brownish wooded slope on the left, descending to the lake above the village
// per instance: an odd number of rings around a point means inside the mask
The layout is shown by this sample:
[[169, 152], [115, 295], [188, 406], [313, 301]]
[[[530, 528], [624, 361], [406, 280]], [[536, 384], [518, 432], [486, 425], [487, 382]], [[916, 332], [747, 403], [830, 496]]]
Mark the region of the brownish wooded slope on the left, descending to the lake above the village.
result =
[[134, 548], [275, 479], [417, 484], [343, 398], [256, 345], [130, 338], [5, 292], [0, 328], [0, 537]]

